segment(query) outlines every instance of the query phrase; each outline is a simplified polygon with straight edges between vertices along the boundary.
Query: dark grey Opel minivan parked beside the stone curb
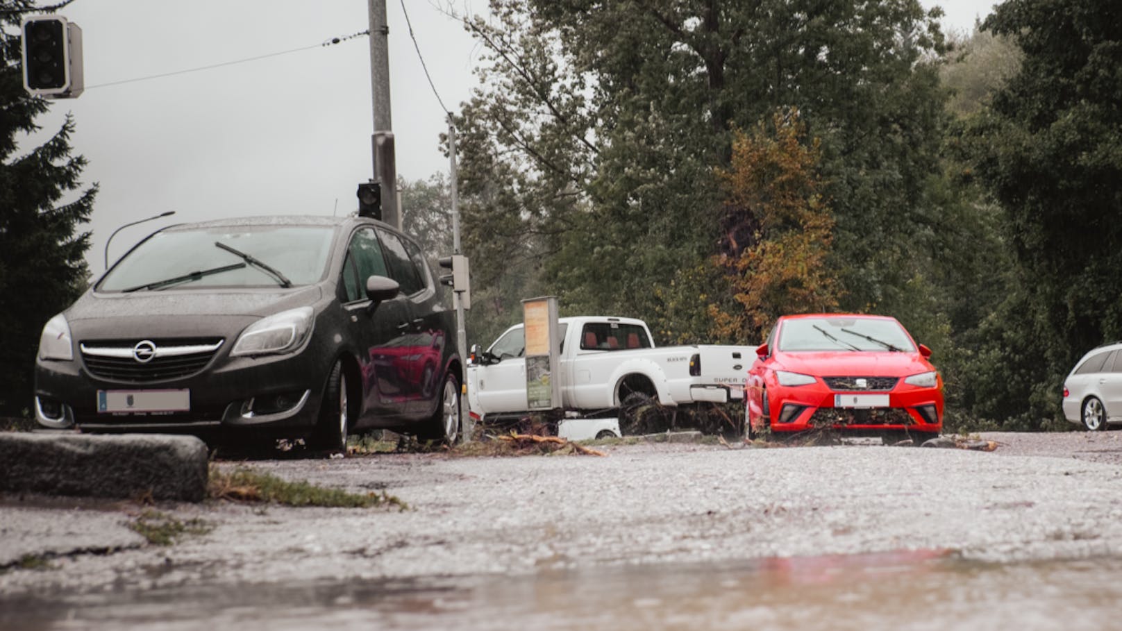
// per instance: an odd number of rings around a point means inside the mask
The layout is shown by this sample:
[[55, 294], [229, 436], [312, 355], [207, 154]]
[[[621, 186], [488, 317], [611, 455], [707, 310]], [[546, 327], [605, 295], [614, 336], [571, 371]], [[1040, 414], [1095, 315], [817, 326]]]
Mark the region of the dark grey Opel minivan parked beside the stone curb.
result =
[[48, 428], [307, 438], [387, 428], [453, 442], [454, 314], [421, 248], [364, 218], [173, 226], [43, 329]]

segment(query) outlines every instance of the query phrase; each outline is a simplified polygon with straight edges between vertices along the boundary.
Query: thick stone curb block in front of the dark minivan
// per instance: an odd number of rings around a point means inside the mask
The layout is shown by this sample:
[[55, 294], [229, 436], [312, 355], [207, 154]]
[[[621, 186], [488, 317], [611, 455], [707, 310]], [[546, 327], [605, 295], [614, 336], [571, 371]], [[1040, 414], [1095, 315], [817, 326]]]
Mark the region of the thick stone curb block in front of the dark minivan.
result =
[[0, 492], [201, 502], [206, 479], [193, 436], [0, 433]]

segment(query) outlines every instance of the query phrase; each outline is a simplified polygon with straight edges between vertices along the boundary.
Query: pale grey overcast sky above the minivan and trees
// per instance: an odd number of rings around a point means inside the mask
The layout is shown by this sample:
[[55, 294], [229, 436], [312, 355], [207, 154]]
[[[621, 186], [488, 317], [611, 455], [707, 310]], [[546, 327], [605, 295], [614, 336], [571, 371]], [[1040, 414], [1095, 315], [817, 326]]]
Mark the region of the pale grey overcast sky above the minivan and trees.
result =
[[[398, 175], [415, 181], [448, 172], [439, 146], [447, 119], [401, 2], [386, 2], [393, 131]], [[966, 31], [992, 6], [921, 2], [941, 4], [945, 26]], [[441, 9], [450, 3], [461, 13], [486, 10], [486, 0], [405, 0], [436, 90], [457, 111], [476, 84], [480, 49]], [[82, 27], [86, 91], [56, 101], [37, 122], [48, 134], [74, 116], [84, 181], [100, 184], [88, 227], [94, 274], [113, 230], [168, 210], [176, 214], [118, 234], [110, 262], [171, 221], [357, 207], [356, 185], [373, 172], [369, 40], [319, 44], [366, 30], [366, 0], [76, 0], [59, 15]]]

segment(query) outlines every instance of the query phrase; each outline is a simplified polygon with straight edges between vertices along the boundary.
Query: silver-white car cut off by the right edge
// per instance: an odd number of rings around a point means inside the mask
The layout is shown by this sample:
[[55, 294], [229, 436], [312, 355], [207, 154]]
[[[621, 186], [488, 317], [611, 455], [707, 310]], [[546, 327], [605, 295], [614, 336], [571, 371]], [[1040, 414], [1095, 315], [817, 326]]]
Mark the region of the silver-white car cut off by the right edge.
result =
[[1064, 379], [1064, 417], [1091, 431], [1122, 423], [1122, 342], [1092, 349]]

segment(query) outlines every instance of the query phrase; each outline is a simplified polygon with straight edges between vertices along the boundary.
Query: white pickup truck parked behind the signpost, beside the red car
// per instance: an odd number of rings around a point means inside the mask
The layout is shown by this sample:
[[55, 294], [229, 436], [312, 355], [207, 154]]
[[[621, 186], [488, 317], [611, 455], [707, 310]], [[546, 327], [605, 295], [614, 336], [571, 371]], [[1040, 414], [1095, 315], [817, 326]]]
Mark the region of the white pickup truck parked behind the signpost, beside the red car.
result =
[[[663, 405], [744, 397], [755, 350], [747, 346], [655, 348], [646, 323], [634, 318], [559, 319], [561, 408], [587, 413], [655, 400]], [[525, 413], [526, 360], [522, 324], [487, 350], [472, 347], [468, 404], [487, 420]]]

